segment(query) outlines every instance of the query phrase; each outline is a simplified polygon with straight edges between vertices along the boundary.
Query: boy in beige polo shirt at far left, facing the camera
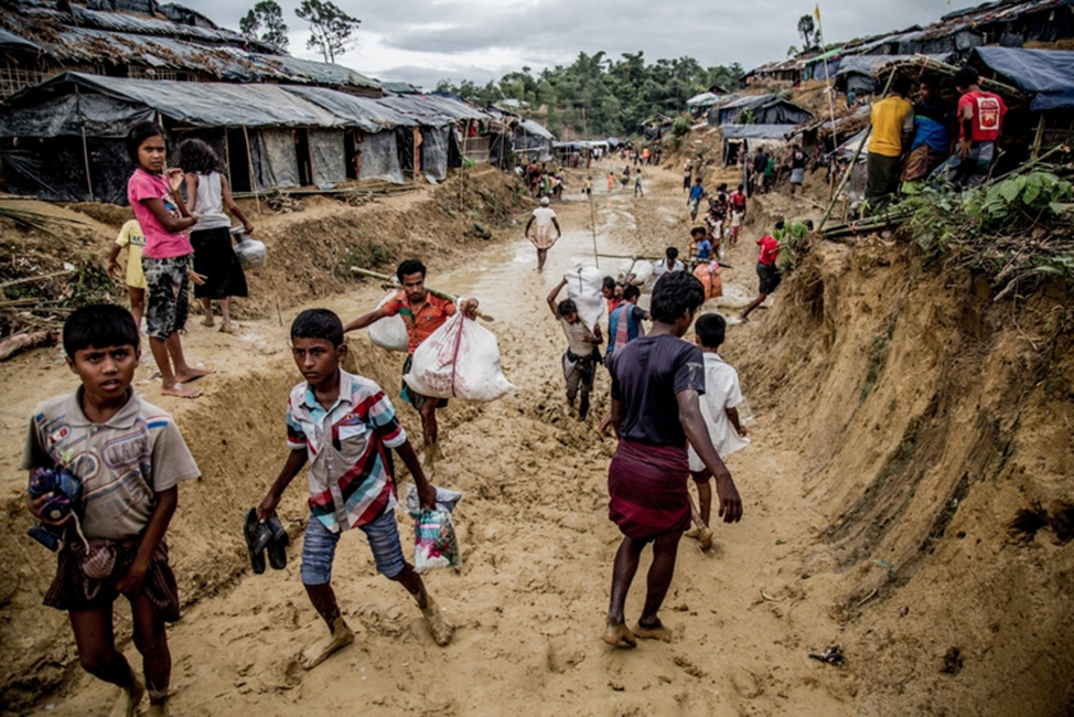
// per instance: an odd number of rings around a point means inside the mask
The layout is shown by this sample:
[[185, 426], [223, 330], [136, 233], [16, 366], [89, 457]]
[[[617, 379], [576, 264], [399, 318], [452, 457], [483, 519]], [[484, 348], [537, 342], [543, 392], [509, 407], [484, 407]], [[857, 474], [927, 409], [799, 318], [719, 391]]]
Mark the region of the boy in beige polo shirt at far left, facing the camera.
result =
[[[83, 668], [122, 689], [114, 715], [133, 717], [146, 687], [149, 714], [164, 715], [172, 665], [164, 622], [179, 619], [164, 534], [176, 485], [197, 478], [197, 465], [171, 416], [130, 386], [140, 353], [126, 309], [75, 311], [63, 344], [82, 386], [34, 409], [22, 456], [25, 470], [65, 468], [82, 481], [77, 517], [50, 524], [63, 525], [65, 539], [44, 603], [67, 611]], [[30, 512], [40, 518], [51, 495], [28, 494]], [[144, 684], [116, 650], [112, 602], [120, 595], [130, 602]]]

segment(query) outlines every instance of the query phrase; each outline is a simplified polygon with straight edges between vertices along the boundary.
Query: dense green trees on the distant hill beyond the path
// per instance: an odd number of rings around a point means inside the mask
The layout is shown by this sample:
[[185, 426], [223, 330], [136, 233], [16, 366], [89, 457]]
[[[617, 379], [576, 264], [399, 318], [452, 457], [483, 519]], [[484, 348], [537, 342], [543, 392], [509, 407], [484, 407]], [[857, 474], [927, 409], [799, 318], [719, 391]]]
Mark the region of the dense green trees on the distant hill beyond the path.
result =
[[522, 114], [541, 120], [560, 137], [609, 137], [634, 133], [658, 114], [678, 115], [687, 99], [710, 87], [734, 92], [742, 75], [738, 63], [702, 67], [692, 57], [679, 57], [646, 64], [642, 52], [613, 60], [601, 51], [581, 52], [570, 65], [536, 75], [523, 67], [484, 86], [444, 79], [437, 89], [477, 105], [517, 99]]

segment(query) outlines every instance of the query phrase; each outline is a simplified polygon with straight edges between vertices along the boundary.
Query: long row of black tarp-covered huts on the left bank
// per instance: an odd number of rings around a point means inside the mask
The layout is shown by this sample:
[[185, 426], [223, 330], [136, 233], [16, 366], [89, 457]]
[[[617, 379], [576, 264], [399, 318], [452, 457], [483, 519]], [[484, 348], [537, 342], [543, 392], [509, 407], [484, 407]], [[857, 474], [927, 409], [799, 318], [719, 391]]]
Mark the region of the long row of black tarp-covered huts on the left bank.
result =
[[[0, 109], [8, 189], [53, 201], [126, 202], [123, 138], [159, 121], [225, 159], [236, 191], [332, 188], [346, 179], [443, 180], [461, 165], [458, 125], [487, 116], [444, 97], [358, 97], [323, 87], [66, 73]], [[356, 161], [357, 158], [357, 161]]]

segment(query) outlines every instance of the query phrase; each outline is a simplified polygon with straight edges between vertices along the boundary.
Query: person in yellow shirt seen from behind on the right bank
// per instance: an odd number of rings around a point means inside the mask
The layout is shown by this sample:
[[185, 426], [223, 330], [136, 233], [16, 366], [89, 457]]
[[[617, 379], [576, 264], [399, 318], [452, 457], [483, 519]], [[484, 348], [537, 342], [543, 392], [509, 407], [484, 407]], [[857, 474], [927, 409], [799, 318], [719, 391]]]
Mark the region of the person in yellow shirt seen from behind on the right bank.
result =
[[891, 202], [899, 189], [902, 156], [914, 131], [914, 106], [906, 99], [909, 94], [910, 78], [896, 75], [891, 94], [872, 106], [866, 200], [873, 212]]

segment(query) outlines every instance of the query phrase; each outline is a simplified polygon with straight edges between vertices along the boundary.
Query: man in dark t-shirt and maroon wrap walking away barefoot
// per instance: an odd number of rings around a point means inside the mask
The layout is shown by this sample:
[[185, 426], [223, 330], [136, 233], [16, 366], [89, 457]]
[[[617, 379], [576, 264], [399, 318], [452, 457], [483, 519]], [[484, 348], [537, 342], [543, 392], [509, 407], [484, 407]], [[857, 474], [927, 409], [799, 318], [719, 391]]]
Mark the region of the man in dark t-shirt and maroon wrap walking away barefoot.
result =
[[[623, 533], [615, 554], [604, 642], [634, 646], [635, 638], [670, 641], [657, 612], [675, 572], [679, 538], [690, 523], [687, 440], [716, 478], [724, 522], [742, 517], [734, 481], [712, 447], [698, 397], [705, 393], [701, 350], [680, 341], [705, 300], [701, 282], [666, 274], [653, 291], [653, 329], [616, 351], [612, 364], [612, 426], [619, 447], [608, 468], [609, 517]], [[645, 607], [631, 630], [626, 593], [644, 547], [653, 544]]]

